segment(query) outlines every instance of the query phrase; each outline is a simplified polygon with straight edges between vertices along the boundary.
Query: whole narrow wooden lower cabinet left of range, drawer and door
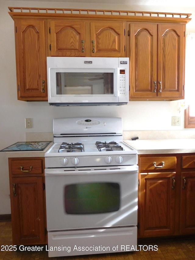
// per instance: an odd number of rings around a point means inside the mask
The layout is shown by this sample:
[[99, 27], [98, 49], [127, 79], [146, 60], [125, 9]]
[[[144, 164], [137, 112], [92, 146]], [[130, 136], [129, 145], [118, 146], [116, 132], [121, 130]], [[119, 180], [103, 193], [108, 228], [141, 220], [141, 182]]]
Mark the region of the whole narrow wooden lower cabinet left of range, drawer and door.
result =
[[44, 158], [9, 158], [14, 245], [46, 244]]

